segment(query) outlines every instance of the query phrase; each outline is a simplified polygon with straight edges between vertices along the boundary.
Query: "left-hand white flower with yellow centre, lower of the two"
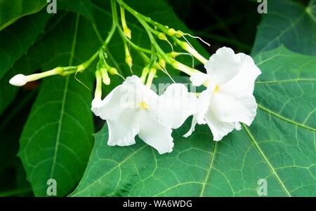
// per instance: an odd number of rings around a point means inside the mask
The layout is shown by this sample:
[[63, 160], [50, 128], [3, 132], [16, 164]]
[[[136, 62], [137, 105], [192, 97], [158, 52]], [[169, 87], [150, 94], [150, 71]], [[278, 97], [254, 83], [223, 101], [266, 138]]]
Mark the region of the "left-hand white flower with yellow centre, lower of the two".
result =
[[192, 104], [187, 102], [195, 100], [181, 84], [172, 84], [164, 95], [159, 96], [143, 85], [137, 76], [131, 76], [102, 102], [93, 102], [91, 109], [107, 121], [108, 145], [129, 146], [135, 144], [138, 135], [159, 154], [164, 154], [173, 149], [172, 129], [180, 127], [194, 113], [190, 106], [174, 105]]

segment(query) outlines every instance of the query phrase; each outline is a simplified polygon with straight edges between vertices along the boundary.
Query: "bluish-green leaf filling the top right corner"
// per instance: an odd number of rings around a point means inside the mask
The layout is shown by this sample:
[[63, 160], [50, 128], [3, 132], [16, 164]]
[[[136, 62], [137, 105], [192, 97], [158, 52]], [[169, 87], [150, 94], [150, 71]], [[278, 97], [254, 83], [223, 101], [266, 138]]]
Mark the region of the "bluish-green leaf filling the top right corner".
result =
[[284, 45], [289, 50], [316, 55], [316, 0], [308, 6], [292, 0], [268, 2], [268, 14], [258, 26], [253, 53]]

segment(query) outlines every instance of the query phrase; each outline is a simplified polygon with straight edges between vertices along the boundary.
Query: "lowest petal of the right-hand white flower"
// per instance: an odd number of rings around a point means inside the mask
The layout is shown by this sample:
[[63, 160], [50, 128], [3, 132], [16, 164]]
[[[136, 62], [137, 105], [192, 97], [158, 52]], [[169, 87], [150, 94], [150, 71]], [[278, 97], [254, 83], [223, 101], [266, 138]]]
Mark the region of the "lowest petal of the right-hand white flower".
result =
[[211, 132], [213, 134], [214, 141], [220, 141], [225, 135], [228, 135], [229, 132], [232, 132], [235, 128], [235, 123], [226, 123], [219, 121], [216, 116], [213, 114], [213, 111], [209, 109], [205, 116], [205, 120]]

